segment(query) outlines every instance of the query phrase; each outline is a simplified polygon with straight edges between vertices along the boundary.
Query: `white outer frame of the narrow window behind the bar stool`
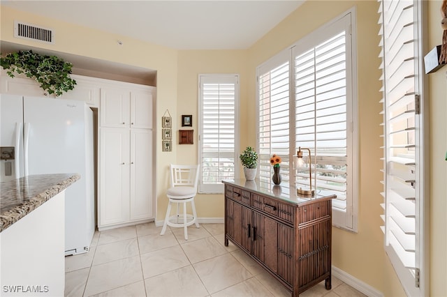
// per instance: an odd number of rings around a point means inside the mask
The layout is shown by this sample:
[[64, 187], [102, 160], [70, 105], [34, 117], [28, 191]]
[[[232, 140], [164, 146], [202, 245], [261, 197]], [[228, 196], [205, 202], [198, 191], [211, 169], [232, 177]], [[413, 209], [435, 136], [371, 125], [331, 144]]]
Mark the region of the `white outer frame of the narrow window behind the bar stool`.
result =
[[239, 107], [240, 107], [240, 75], [238, 74], [199, 74], [198, 75], [198, 162], [200, 164], [200, 177], [198, 184], [198, 192], [200, 194], [223, 194], [224, 187], [221, 181], [217, 181], [214, 184], [203, 183], [203, 170], [202, 166], [202, 156], [203, 156], [203, 128], [204, 128], [204, 115], [203, 115], [203, 83], [213, 83], [213, 84], [224, 84], [224, 83], [234, 83], [235, 84], [235, 98], [234, 98], [234, 109], [235, 109], [235, 121], [234, 121], [234, 178], [239, 178], [240, 167], [239, 167], [239, 148], [240, 148], [240, 126], [239, 126]]

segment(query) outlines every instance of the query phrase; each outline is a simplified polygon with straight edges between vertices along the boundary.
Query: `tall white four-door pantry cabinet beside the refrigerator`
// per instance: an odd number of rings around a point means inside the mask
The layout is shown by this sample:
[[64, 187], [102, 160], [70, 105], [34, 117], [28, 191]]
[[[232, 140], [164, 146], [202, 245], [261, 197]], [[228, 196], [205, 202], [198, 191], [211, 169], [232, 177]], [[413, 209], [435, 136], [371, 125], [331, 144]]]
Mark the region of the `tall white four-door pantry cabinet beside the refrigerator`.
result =
[[98, 229], [154, 218], [152, 91], [101, 89]]

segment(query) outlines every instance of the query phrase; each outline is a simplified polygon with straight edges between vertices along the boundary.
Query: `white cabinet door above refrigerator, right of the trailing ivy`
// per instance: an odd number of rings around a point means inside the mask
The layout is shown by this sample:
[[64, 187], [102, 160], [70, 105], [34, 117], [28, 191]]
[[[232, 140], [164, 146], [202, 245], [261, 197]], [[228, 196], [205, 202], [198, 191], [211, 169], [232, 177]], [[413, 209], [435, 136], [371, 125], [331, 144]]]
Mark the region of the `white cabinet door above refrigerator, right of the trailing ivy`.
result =
[[63, 93], [59, 98], [82, 100], [92, 107], [99, 107], [99, 90], [101, 87], [98, 82], [95, 82], [93, 79], [85, 79], [75, 75], [72, 75], [72, 78], [76, 80], [75, 89]]

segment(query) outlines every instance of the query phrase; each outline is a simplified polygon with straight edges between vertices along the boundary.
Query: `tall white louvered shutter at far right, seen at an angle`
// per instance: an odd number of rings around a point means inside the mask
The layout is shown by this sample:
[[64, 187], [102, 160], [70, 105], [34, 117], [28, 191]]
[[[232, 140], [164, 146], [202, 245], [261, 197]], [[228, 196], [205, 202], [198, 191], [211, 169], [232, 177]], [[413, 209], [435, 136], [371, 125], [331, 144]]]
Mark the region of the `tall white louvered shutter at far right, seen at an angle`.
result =
[[421, 1], [379, 1], [385, 249], [408, 296], [425, 296]]

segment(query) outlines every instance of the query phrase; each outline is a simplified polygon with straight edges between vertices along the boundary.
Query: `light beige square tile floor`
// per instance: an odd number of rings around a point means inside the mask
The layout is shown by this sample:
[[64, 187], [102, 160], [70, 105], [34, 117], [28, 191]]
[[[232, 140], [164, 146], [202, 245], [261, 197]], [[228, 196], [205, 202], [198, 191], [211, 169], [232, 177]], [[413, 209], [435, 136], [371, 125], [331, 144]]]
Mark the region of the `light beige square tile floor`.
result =
[[[86, 254], [65, 259], [65, 296], [291, 296], [253, 259], [223, 245], [223, 224], [167, 229], [138, 224], [96, 232]], [[365, 296], [332, 277], [302, 297]]]

